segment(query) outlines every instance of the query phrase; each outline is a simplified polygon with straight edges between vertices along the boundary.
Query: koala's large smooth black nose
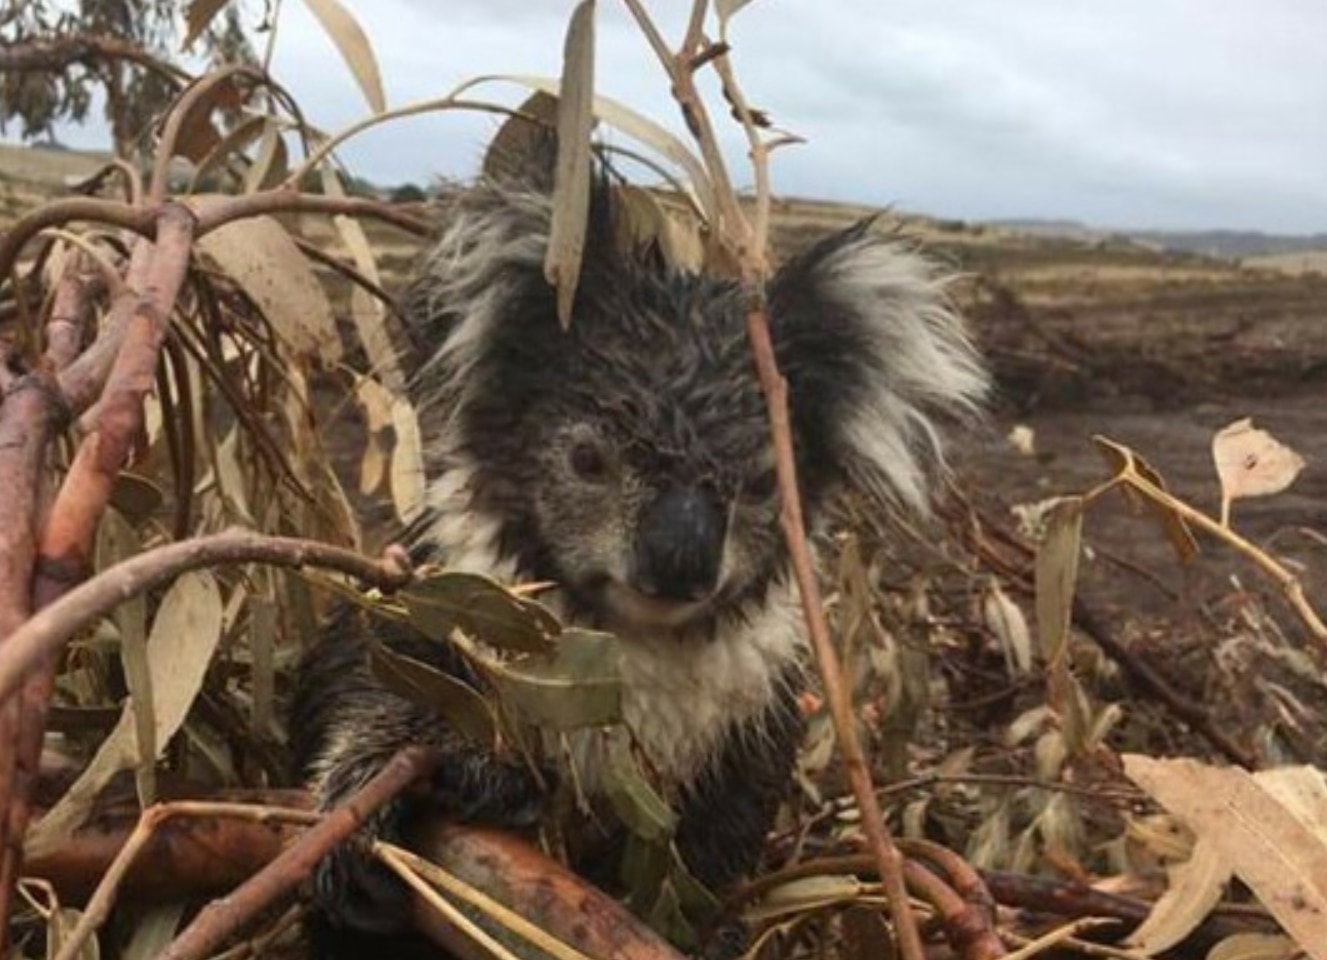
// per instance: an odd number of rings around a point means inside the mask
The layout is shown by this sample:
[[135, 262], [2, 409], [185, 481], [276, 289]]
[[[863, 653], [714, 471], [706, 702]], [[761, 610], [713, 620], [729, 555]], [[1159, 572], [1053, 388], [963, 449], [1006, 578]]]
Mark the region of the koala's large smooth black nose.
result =
[[658, 497], [641, 518], [636, 587], [667, 600], [699, 600], [714, 590], [727, 519], [718, 497], [682, 487]]

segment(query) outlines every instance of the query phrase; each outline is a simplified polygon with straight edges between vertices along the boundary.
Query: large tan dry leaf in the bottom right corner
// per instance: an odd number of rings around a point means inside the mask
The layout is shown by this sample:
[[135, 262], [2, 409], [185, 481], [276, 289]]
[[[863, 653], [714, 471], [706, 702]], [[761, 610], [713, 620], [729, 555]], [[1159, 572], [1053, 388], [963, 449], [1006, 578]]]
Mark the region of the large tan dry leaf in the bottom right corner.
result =
[[1209, 842], [1312, 960], [1327, 960], [1327, 838], [1239, 767], [1125, 754], [1124, 771]]

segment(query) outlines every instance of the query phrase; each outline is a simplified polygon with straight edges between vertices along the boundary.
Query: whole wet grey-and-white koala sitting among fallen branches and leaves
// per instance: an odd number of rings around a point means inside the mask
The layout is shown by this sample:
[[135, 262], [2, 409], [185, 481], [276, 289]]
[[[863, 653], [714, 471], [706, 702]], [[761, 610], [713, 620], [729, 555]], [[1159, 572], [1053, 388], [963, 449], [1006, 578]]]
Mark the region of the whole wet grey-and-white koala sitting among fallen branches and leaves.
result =
[[[413, 546], [449, 568], [555, 582], [567, 619], [621, 637], [626, 724], [681, 815], [682, 859], [722, 888], [755, 866], [791, 782], [802, 612], [740, 291], [654, 250], [616, 248], [610, 203], [596, 189], [564, 331], [543, 275], [544, 185], [486, 181], [441, 202], [441, 239], [406, 299], [429, 479]], [[941, 422], [973, 413], [987, 389], [943, 287], [869, 224], [771, 281], [812, 524], [843, 486], [925, 510]], [[423, 741], [451, 761], [434, 802], [463, 819], [528, 821], [537, 795], [524, 769], [373, 681], [362, 619], [344, 615], [301, 671], [292, 729], [318, 802]], [[413, 643], [399, 627], [372, 629]], [[594, 749], [589, 733], [576, 750], [591, 791]], [[401, 831], [409, 814], [397, 805], [370, 826]], [[334, 918], [365, 929], [399, 923], [387, 887], [353, 852], [329, 858], [316, 883]]]

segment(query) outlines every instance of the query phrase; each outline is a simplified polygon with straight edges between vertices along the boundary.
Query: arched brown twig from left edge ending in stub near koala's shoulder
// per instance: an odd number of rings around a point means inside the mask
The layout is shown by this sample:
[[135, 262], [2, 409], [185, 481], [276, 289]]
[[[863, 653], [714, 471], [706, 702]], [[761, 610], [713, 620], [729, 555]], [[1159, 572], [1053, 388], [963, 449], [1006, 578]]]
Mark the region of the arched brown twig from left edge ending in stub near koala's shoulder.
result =
[[406, 554], [389, 547], [381, 560], [326, 543], [228, 530], [138, 554], [81, 583], [38, 611], [0, 648], [0, 701], [8, 698], [42, 657], [119, 603], [202, 567], [269, 563], [336, 570], [382, 590], [410, 582]]

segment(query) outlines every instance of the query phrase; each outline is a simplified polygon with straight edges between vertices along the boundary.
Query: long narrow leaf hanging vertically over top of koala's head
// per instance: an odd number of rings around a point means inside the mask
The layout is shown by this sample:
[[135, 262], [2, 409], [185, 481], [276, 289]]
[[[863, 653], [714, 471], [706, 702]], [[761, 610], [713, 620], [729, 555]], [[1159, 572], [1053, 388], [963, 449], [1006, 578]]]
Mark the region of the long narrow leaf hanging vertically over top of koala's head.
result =
[[594, 0], [572, 12], [563, 48], [563, 81], [557, 97], [557, 166], [553, 170], [553, 214], [544, 254], [544, 279], [557, 289], [557, 320], [572, 321], [589, 216], [591, 143], [594, 126]]

